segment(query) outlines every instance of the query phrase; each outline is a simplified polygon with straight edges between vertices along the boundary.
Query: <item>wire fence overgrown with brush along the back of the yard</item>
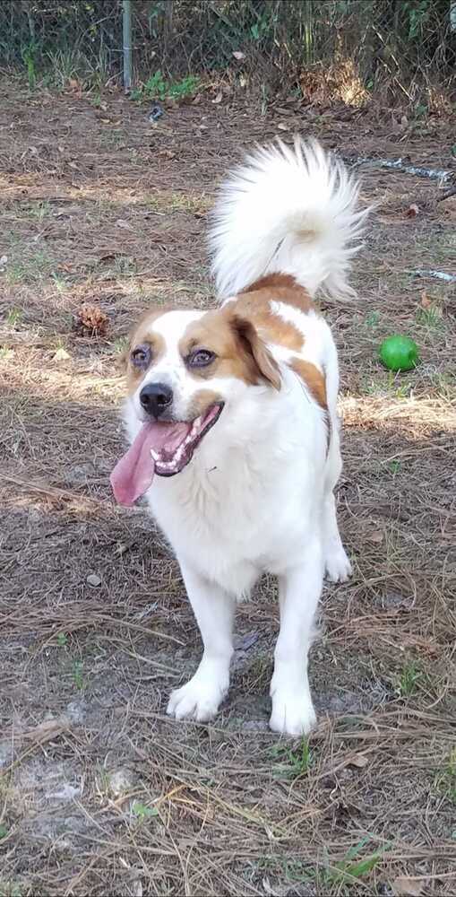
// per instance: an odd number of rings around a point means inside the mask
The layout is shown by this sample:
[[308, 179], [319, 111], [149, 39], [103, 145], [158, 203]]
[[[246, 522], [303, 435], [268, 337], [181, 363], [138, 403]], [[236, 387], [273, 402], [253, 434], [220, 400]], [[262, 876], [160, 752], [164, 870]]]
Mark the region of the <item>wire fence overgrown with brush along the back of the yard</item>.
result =
[[[132, 0], [133, 81], [161, 72], [362, 101], [452, 96], [456, 0]], [[124, 13], [124, 16], [123, 16]], [[0, 4], [0, 65], [29, 82], [121, 79], [122, 0]]]

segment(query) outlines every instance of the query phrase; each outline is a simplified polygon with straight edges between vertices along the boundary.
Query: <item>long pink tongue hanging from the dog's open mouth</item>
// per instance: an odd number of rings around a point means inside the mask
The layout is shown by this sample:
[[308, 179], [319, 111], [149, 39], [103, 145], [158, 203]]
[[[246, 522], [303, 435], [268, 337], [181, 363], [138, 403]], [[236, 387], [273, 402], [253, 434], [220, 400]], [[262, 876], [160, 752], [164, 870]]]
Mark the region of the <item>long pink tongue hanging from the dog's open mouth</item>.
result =
[[119, 504], [133, 505], [153, 480], [155, 466], [151, 448], [175, 448], [185, 437], [188, 426], [176, 423], [144, 423], [131, 448], [117, 462], [111, 486]]

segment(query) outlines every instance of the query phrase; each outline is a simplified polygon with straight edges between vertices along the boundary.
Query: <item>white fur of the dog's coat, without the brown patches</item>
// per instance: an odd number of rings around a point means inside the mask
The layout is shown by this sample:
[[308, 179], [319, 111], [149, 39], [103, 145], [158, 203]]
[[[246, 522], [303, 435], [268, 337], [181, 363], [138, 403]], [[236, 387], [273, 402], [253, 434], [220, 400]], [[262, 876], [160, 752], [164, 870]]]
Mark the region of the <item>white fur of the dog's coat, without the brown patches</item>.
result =
[[[240, 179], [245, 193], [239, 192]], [[296, 157], [283, 147], [259, 152], [227, 190], [214, 238], [222, 292], [240, 290], [271, 270], [276, 265], [271, 250], [280, 240], [276, 260], [286, 258], [287, 270], [299, 274], [313, 292], [323, 284], [347, 292], [351, 250], [346, 241], [361, 220], [352, 210], [357, 188], [343, 170], [329, 167], [319, 148], [300, 146]], [[219, 421], [181, 473], [154, 478], [147, 501], [176, 553], [203, 642], [200, 666], [173, 692], [168, 712], [199, 720], [217, 713], [228, 691], [236, 602], [267, 571], [278, 576], [280, 586], [271, 728], [298, 736], [315, 720], [307, 654], [323, 572], [326, 568], [333, 580], [350, 573], [333, 496], [341, 469], [339, 373], [331, 331], [322, 318], [280, 301], [273, 301], [271, 310], [301, 330], [305, 344], [298, 357], [325, 374], [329, 430], [322, 409], [284, 363], [294, 353], [271, 344], [280, 364], [280, 391], [247, 386], [234, 377], [210, 379], [209, 388], [225, 401]], [[183, 416], [198, 384], [186, 371], [178, 345], [189, 321], [200, 315], [170, 312], [153, 324], [167, 351], [146, 379], [166, 379]], [[138, 395], [127, 401], [125, 420], [133, 440], [142, 422]]]

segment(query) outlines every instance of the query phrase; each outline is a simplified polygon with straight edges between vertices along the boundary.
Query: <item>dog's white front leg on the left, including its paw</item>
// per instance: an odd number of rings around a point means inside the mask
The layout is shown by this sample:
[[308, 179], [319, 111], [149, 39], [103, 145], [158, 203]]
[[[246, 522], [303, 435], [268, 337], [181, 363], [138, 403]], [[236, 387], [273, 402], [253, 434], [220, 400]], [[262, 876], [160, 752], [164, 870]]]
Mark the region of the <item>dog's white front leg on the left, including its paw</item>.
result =
[[186, 564], [181, 562], [180, 567], [204, 650], [194, 676], [172, 692], [167, 713], [202, 722], [216, 715], [228, 692], [235, 599]]

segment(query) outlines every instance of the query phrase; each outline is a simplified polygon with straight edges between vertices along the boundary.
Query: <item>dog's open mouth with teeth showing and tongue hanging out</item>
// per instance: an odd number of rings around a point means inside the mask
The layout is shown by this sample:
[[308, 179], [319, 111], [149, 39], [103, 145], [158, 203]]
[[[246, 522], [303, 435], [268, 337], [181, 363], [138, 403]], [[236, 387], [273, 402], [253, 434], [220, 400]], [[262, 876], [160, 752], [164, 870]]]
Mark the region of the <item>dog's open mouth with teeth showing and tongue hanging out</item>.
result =
[[116, 501], [133, 505], [147, 492], [155, 474], [179, 474], [194, 457], [194, 449], [219, 420], [222, 408], [222, 402], [211, 405], [190, 422], [143, 423], [133, 445], [111, 474]]

